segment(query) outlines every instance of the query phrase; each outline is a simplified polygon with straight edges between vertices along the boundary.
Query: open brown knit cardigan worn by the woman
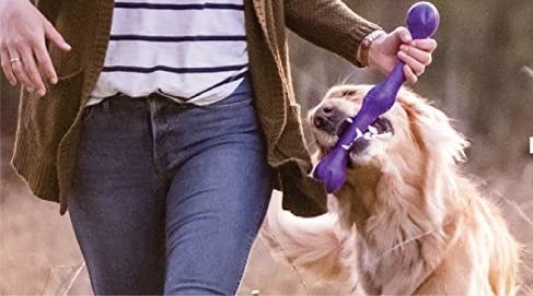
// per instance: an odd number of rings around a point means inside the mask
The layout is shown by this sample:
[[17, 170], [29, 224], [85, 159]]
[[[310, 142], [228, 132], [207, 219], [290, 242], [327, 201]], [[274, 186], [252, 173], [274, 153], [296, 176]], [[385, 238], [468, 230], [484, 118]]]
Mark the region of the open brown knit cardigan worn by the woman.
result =
[[[325, 211], [322, 183], [309, 177], [300, 106], [292, 91], [286, 26], [352, 63], [361, 39], [379, 27], [337, 0], [244, 0], [250, 72], [260, 126], [283, 208], [297, 215]], [[83, 106], [104, 64], [114, 0], [39, 0], [37, 7], [68, 43], [50, 47], [59, 76], [44, 98], [23, 92], [12, 165], [33, 193], [68, 208]]]

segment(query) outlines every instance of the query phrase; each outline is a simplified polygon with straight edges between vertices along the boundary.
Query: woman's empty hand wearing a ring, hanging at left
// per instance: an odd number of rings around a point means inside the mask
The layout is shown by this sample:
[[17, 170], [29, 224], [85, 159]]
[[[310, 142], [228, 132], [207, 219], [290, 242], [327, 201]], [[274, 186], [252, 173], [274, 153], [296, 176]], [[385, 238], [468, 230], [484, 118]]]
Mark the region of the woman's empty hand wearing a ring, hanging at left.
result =
[[46, 40], [70, 50], [61, 34], [28, 0], [0, 1], [0, 59], [11, 85], [20, 83], [27, 92], [44, 96], [44, 81], [57, 83]]

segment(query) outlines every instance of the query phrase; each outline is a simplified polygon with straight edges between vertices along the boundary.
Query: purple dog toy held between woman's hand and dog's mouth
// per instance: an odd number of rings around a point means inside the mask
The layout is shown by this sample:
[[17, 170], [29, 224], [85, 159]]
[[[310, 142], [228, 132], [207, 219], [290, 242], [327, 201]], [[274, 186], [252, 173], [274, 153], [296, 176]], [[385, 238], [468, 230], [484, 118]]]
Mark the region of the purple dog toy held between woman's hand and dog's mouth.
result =
[[[407, 27], [413, 39], [430, 37], [439, 26], [439, 11], [429, 2], [417, 2], [407, 12]], [[362, 137], [375, 119], [386, 113], [394, 104], [396, 94], [405, 81], [404, 63], [397, 61], [393, 71], [364, 96], [359, 113], [335, 147], [318, 163], [314, 177], [322, 180], [332, 193], [340, 189], [346, 180], [348, 153], [354, 143]]]

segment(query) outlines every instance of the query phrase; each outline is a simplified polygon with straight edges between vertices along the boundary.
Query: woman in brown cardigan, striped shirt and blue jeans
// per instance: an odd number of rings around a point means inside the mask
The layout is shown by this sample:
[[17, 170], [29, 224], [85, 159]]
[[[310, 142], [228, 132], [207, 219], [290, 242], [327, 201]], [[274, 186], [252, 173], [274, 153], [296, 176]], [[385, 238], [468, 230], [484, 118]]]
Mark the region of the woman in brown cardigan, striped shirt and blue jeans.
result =
[[234, 294], [273, 187], [325, 210], [286, 26], [358, 67], [399, 58], [410, 82], [436, 48], [335, 0], [9, 0], [0, 16], [24, 90], [12, 164], [69, 210], [96, 294]]

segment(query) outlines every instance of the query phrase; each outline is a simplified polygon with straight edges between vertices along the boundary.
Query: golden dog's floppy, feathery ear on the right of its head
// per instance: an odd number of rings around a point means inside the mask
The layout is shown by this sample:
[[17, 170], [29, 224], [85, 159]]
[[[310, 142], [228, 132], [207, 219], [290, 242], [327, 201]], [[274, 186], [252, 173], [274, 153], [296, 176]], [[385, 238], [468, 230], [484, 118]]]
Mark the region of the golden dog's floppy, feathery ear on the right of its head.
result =
[[412, 129], [419, 133], [417, 141], [430, 154], [437, 154], [449, 162], [464, 162], [464, 150], [470, 145], [464, 135], [450, 123], [450, 118], [441, 110], [431, 106], [419, 95], [402, 88], [399, 102], [407, 111]]

